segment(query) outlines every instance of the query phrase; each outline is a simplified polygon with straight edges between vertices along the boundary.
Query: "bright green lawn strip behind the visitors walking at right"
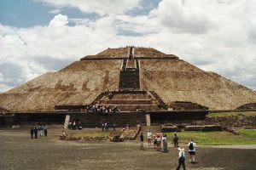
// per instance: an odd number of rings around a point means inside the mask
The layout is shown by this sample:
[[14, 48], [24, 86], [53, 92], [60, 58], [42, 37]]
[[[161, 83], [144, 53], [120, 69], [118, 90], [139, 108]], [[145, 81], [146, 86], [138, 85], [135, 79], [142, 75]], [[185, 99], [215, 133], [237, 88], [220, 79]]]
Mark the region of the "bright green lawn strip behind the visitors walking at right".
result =
[[[232, 145], [232, 144], [256, 144], [256, 129], [241, 129], [240, 135], [227, 132], [201, 132], [183, 131], [178, 133], [181, 144], [186, 145], [190, 139], [195, 139], [200, 145]], [[173, 133], [167, 133], [172, 139]]]

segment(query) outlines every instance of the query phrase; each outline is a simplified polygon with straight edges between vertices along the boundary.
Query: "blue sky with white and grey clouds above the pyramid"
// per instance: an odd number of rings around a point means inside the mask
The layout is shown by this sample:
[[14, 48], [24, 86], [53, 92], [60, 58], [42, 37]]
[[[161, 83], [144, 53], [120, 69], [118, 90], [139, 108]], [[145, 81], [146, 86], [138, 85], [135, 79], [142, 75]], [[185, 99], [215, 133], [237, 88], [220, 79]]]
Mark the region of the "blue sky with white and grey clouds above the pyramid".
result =
[[255, 8], [255, 0], [0, 0], [0, 93], [130, 45], [256, 90]]

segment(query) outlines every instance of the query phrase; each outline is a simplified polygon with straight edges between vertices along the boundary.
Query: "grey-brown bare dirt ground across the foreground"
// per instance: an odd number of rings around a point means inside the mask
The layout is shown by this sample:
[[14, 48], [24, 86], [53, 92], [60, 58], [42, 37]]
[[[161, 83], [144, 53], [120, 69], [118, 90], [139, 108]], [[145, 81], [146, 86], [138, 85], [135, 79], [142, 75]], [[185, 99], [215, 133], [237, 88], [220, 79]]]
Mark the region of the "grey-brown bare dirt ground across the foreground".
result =
[[[48, 137], [30, 139], [29, 127], [0, 128], [0, 169], [147, 169], [172, 170], [177, 167], [178, 150], [168, 145], [163, 153], [148, 147], [139, 150], [138, 141], [68, 142], [58, 140], [61, 127], [49, 127]], [[255, 145], [236, 147], [199, 146], [192, 170], [256, 169]]]

